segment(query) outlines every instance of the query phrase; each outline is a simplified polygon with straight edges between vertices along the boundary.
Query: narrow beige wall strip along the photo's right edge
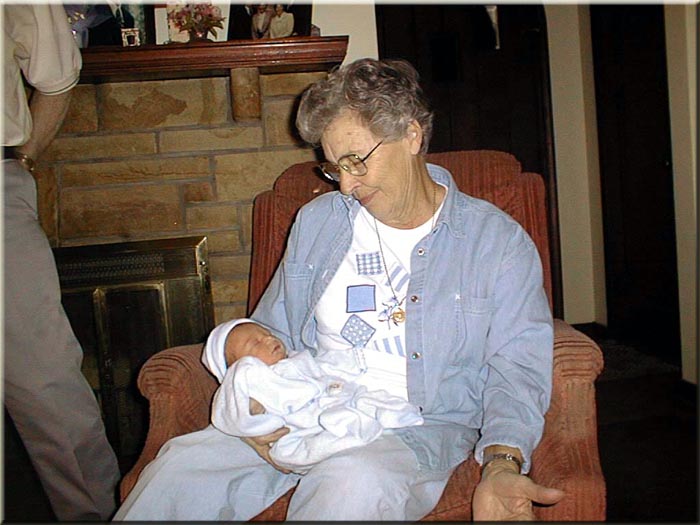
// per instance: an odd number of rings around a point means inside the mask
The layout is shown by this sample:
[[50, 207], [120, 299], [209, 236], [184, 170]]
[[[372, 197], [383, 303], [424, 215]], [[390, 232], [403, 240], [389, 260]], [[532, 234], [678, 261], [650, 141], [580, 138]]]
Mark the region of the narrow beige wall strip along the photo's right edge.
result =
[[664, 10], [683, 378], [697, 384], [697, 6], [668, 5]]

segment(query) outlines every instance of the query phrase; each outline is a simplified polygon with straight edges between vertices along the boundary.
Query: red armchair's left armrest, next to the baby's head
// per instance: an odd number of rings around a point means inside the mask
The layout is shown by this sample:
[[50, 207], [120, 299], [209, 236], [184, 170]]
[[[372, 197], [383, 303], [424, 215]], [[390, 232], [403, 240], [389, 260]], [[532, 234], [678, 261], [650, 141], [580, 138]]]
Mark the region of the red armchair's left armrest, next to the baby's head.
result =
[[201, 344], [177, 346], [154, 354], [141, 368], [138, 387], [149, 402], [148, 434], [139, 459], [120, 484], [121, 501], [167, 440], [209, 424], [218, 384], [201, 355]]

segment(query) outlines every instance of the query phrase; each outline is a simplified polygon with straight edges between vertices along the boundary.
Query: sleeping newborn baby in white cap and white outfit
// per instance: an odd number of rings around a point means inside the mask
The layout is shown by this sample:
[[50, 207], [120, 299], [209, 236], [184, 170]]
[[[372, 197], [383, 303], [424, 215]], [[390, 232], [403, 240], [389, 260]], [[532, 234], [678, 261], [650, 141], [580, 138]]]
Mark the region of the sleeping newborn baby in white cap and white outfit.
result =
[[221, 383], [212, 424], [239, 437], [288, 427], [270, 457], [300, 474], [341, 450], [375, 440], [384, 429], [423, 423], [414, 405], [383, 390], [367, 391], [308, 351], [286, 357], [282, 342], [249, 319], [214, 328], [202, 361]]

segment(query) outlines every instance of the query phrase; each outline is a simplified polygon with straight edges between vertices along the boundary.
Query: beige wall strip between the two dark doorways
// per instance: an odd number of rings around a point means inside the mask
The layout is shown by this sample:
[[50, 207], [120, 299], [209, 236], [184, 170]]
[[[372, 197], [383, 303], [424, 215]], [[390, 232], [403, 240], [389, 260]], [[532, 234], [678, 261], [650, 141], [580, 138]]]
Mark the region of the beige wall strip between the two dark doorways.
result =
[[588, 9], [547, 5], [564, 319], [607, 324]]

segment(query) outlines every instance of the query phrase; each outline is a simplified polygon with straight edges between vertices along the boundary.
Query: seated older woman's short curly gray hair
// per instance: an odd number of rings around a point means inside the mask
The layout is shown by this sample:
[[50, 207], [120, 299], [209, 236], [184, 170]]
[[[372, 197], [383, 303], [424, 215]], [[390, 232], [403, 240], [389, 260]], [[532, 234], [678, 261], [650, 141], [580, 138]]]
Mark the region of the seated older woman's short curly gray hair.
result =
[[420, 152], [428, 152], [433, 113], [418, 72], [405, 60], [362, 58], [309, 86], [297, 112], [299, 134], [317, 146], [326, 126], [344, 110], [355, 112], [372, 134], [388, 141], [405, 137], [415, 120], [423, 129]]

